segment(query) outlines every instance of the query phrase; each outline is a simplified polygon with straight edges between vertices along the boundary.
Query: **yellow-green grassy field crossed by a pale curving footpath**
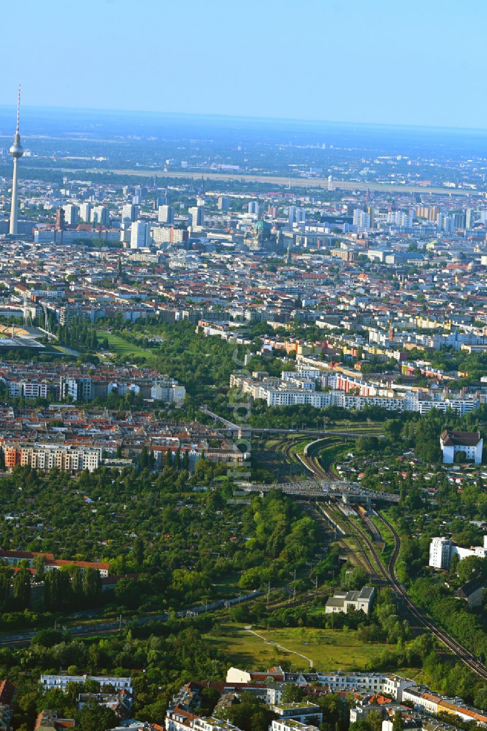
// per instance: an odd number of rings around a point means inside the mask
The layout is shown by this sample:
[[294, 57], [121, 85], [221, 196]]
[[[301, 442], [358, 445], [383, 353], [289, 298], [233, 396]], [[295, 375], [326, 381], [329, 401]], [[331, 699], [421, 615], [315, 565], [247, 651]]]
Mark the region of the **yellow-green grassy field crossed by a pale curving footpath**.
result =
[[[217, 633], [216, 633], [217, 632]], [[298, 655], [265, 643], [259, 637], [247, 632], [243, 625], [225, 623], [217, 630], [205, 635], [230, 662], [245, 670], [267, 670], [279, 659], [292, 662], [295, 670], [309, 668], [309, 663]], [[259, 635], [270, 642], [279, 643], [289, 650], [306, 655], [313, 660], [317, 670], [362, 670], [367, 660], [380, 654], [388, 645], [365, 644], [358, 639], [357, 632], [314, 629], [308, 627], [287, 629], [256, 629]]]

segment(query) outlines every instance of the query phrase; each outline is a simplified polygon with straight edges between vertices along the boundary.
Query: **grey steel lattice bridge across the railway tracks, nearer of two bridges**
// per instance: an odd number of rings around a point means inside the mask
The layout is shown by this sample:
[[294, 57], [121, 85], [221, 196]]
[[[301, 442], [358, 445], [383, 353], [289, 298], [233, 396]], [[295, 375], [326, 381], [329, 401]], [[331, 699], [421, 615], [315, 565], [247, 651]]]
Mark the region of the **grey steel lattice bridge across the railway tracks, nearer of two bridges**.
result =
[[287, 495], [300, 497], [333, 496], [344, 503], [364, 502], [371, 504], [375, 501], [399, 502], [399, 495], [391, 495], [380, 491], [361, 488], [358, 483], [347, 480], [302, 480], [301, 482], [281, 482], [265, 485], [260, 482], [238, 482], [238, 488], [245, 492], [268, 493], [271, 490], [280, 490]]

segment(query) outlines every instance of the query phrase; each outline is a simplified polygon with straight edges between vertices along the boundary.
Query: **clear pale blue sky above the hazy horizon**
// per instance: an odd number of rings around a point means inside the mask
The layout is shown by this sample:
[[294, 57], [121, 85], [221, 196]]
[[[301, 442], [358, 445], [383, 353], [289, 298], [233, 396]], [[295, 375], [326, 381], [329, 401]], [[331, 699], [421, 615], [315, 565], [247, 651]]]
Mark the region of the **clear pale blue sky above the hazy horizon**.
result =
[[26, 105], [487, 128], [486, 0], [16, 0], [2, 26], [4, 105], [20, 80]]

